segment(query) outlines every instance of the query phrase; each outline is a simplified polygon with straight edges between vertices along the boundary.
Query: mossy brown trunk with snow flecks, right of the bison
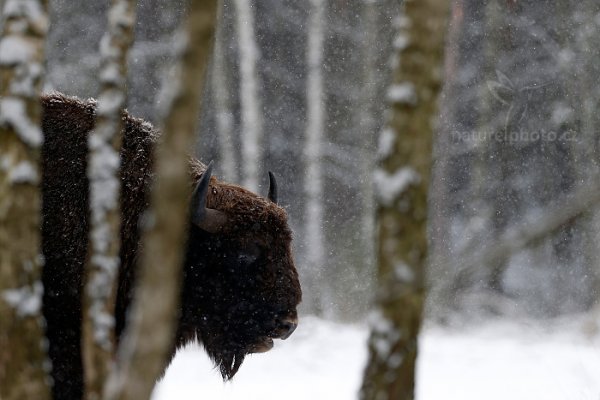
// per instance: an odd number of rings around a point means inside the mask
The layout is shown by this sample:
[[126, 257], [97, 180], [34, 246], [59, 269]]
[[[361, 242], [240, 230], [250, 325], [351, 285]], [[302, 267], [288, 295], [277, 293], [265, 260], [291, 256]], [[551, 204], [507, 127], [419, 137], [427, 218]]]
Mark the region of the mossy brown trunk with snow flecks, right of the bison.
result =
[[414, 398], [428, 256], [432, 132], [449, 8], [445, 0], [406, 0], [398, 19], [396, 68], [388, 92], [393, 140], [374, 178], [380, 289], [362, 399]]

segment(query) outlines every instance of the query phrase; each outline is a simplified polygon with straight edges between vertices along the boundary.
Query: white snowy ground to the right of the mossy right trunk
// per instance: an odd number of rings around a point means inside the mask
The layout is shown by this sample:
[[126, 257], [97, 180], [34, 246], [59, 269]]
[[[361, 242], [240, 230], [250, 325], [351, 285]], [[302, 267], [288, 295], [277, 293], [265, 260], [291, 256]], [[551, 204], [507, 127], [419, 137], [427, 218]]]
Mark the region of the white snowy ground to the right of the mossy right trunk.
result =
[[430, 329], [421, 337], [418, 400], [597, 400], [600, 338], [577, 324], [562, 332], [486, 323], [469, 332]]

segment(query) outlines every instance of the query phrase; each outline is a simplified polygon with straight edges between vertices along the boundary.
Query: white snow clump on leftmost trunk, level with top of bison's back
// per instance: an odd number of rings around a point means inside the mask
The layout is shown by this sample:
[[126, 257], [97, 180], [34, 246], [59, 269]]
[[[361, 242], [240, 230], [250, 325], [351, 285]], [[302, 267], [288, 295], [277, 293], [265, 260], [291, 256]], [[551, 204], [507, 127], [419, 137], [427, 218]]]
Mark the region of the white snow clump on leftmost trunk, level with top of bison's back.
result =
[[0, 99], [0, 124], [12, 126], [19, 138], [27, 145], [42, 145], [42, 130], [27, 116], [25, 102], [16, 97]]

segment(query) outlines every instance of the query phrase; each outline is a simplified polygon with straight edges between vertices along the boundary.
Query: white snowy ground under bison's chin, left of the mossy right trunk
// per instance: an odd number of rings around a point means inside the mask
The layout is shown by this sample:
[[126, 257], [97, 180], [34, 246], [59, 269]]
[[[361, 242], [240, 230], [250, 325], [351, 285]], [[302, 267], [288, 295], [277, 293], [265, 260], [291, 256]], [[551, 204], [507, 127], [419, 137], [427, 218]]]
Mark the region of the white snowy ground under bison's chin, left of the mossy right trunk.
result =
[[312, 317], [273, 350], [250, 355], [223, 383], [197, 345], [179, 351], [152, 400], [306, 400], [356, 398], [367, 357], [368, 331]]

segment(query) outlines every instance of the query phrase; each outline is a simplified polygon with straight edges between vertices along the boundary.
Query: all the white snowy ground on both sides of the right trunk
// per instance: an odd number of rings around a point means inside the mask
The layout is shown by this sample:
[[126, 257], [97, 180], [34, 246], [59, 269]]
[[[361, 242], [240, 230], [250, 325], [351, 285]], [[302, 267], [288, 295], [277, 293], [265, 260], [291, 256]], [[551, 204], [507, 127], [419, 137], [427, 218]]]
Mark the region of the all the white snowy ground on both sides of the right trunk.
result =
[[[584, 319], [539, 328], [485, 323], [468, 331], [427, 328], [418, 400], [600, 400], [600, 337]], [[223, 383], [198, 346], [181, 351], [152, 400], [356, 399], [367, 329], [304, 318], [287, 341], [250, 356]]]

